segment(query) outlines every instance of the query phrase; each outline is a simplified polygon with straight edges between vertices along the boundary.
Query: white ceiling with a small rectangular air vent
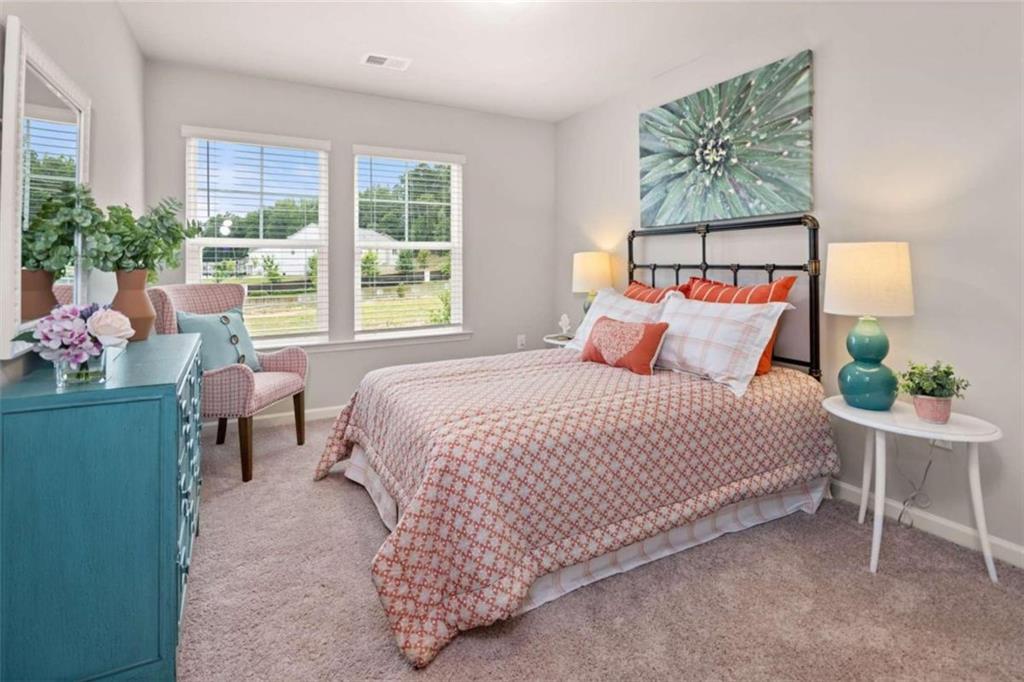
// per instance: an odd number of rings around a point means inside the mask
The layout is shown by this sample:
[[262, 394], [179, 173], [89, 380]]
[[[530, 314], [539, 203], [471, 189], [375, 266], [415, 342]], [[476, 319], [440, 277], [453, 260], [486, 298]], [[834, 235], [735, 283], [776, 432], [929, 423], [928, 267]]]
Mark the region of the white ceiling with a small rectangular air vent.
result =
[[[728, 38], [739, 4], [120, 3], [146, 57], [559, 121]], [[407, 72], [360, 63], [408, 57]]]

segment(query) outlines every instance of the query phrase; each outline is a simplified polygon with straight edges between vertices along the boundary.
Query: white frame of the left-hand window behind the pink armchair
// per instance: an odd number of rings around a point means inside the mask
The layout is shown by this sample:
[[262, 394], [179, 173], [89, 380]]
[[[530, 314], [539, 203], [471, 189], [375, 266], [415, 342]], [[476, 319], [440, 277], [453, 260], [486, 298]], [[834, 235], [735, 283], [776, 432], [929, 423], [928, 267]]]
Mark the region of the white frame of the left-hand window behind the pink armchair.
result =
[[306, 137], [292, 137], [287, 135], [275, 135], [270, 133], [243, 132], [239, 130], [226, 130], [223, 128], [206, 128], [202, 126], [183, 125], [181, 126], [181, 136], [185, 139], [185, 212], [188, 219], [191, 216], [194, 196], [197, 186], [189, 169], [195, 167], [195, 148], [188, 143], [190, 139], [210, 139], [218, 142], [237, 142], [240, 144], [258, 144], [265, 146], [290, 147], [302, 150], [304, 152], [319, 152], [319, 172], [321, 191], [317, 204], [317, 217], [325, 236], [322, 240], [302, 240], [296, 243], [294, 240], [274, 239], [231, 239], [231, 238], [204, 238], [187, 240], [185, 244], [185, 282], [203, 282], [203, 249], [205, 247], [222, 248], [267, 248], [276, 247], [281, 249], [304, 249], [317, 248], [319, 256], [317, 260], [316, 291], [325, 292], [324, 296], [317, 296], [316, 316], [325, 322], [325, 329], [310, 334], [308, 331], [299, 331], [292, 334], [278, 334], [259, 336], [254, 339], [257, 345], [271, 344], [275, 339], [302, 339], [311, 342], [325, 342], [330, 339], [330, 309], [331, 309], [331, 288], [329, 286], [328, 271], [330, 269], [330, 165], [331, 165], [331, 141], [324, 139], [312, 139]]

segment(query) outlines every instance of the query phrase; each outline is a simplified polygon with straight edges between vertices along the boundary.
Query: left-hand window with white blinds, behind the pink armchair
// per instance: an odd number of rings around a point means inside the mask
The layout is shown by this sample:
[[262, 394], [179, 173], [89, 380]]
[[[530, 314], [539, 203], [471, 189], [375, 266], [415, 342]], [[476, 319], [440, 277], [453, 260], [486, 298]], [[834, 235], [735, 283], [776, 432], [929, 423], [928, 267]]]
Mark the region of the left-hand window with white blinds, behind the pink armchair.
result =
[[254, 337], [327, 336], [330, 143], [185, 127], [187, 282], [248, 286]]

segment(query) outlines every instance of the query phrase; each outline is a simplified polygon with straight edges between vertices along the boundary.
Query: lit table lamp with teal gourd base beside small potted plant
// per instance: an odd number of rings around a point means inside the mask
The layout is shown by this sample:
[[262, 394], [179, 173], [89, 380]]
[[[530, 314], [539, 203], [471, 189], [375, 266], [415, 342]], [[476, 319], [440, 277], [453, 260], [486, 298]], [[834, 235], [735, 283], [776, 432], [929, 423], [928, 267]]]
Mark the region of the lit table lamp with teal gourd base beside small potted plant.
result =
[[910, 245], [906, 242], [829, 244], [825, 263], [825, 312], [856, 315], [846, 337], [853, 356], [839, 372], [846, 401], [862, 410], [889, 410], [896, 401], [896, 375], [882, 360], [889, 337], [879, 317], [913, 314]]

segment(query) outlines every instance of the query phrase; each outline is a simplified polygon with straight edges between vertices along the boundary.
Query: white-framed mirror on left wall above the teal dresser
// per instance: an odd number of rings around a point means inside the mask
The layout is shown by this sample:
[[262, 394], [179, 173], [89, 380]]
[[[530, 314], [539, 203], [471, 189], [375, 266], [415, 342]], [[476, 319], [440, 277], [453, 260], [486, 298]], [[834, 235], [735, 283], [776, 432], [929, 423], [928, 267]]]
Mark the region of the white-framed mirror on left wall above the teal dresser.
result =
[[[11, 339], [38, 317], [23, 308], [23, 280], [39, 287], [22, 267], [22, 236], [48, 194], [72, 180], [89, 181], [89, 96], [26, 33], [16, 16], [3, 31], [3, 105], [0, 109], [0, 359], [31, 346]], [[82, 245], [50, 287], [60, 303], [84, 302], [87, 272]]]

